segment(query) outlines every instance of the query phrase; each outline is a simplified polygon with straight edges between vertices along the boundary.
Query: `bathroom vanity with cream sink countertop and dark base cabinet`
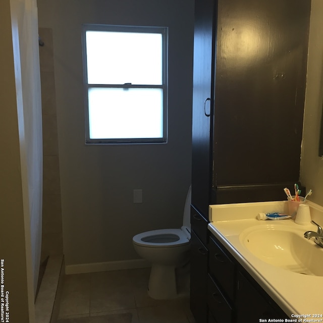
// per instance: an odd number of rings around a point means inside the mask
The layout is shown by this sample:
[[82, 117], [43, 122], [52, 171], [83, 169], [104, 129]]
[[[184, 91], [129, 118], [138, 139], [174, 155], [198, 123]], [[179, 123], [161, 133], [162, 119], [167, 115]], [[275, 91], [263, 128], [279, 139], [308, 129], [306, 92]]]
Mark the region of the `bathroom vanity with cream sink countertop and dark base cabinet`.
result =
[[[308, 204], [323, 223], [323, 207]], [[323, 248], [304, 238], [317, 228], [256, 219], [275, 210], [286, 213], [287, 201], [210, 205], [209, 322], [323, 318]]]

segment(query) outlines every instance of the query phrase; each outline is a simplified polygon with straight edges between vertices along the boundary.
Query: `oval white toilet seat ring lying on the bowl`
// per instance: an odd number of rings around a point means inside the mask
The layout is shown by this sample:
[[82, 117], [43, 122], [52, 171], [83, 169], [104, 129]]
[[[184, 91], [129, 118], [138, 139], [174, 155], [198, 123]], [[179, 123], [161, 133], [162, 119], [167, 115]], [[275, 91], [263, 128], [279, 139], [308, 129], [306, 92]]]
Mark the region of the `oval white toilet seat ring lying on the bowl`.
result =
[[183, 230], [186, 230], [186, 227], [146, 231], [135, 235], [132, 240], [133, 243], [143, 247], [179, 247], [190, 243], [189, 234]]

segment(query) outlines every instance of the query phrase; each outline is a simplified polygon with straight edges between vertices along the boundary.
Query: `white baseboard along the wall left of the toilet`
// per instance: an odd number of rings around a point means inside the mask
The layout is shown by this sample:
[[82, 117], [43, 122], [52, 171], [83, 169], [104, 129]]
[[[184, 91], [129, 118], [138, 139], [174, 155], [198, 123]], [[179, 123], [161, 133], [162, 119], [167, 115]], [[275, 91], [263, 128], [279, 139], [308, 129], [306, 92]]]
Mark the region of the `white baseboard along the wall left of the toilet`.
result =
[[85, 274], [95, 272], [118, 271], [124, 269], [147, 268], [150, 266], [151, 264], [145, 259], [79, 263], [66, 265], [65, 273], [66, 275]]

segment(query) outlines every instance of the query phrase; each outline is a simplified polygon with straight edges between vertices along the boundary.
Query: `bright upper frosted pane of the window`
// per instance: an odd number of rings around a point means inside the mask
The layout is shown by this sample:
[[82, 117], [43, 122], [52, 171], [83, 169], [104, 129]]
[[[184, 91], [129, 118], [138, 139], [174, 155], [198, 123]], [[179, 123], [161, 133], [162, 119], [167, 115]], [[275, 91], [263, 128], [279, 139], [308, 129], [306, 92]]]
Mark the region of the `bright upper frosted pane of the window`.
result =
[[161, 34], [86, 32], [89, 84], [163, 84]]

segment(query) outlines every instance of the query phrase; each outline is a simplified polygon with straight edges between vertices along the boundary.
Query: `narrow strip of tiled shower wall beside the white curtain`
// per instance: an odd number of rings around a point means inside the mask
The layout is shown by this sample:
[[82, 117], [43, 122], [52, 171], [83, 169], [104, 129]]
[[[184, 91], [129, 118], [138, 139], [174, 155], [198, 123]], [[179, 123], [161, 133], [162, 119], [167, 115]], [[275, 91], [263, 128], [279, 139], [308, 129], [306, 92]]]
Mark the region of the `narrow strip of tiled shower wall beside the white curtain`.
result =
[[43, 136], [43, 261], [48, 255], [63, 254], [63, 230], [52, 30], [39, 28], [39, 36], [44, 43], [44, 46], [39, 46]]

